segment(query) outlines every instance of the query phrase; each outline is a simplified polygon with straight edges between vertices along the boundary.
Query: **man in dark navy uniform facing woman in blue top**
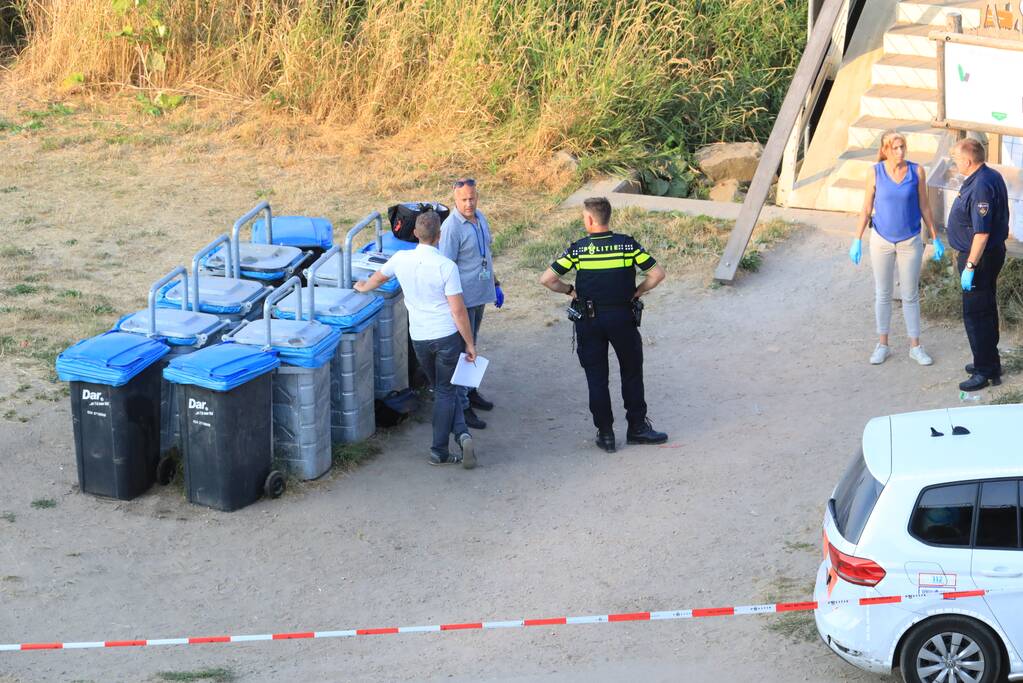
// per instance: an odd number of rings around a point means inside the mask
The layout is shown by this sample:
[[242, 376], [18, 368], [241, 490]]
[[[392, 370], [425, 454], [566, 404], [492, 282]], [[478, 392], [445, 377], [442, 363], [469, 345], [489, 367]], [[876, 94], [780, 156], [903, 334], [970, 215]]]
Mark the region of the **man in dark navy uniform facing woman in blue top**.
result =
[[971, 138], [952, 148], [965, 180], [948, 214], [948, 243], [959, 252], [963, 323], [973, 351], [973, 363], [966, 366], [970, 378], [960, 383], [964, 392], [998, 384], [1002, 376], [995, 285], [1006, 262], [1009, 192], [1002, 175], [984, 158], [983, 145]]

